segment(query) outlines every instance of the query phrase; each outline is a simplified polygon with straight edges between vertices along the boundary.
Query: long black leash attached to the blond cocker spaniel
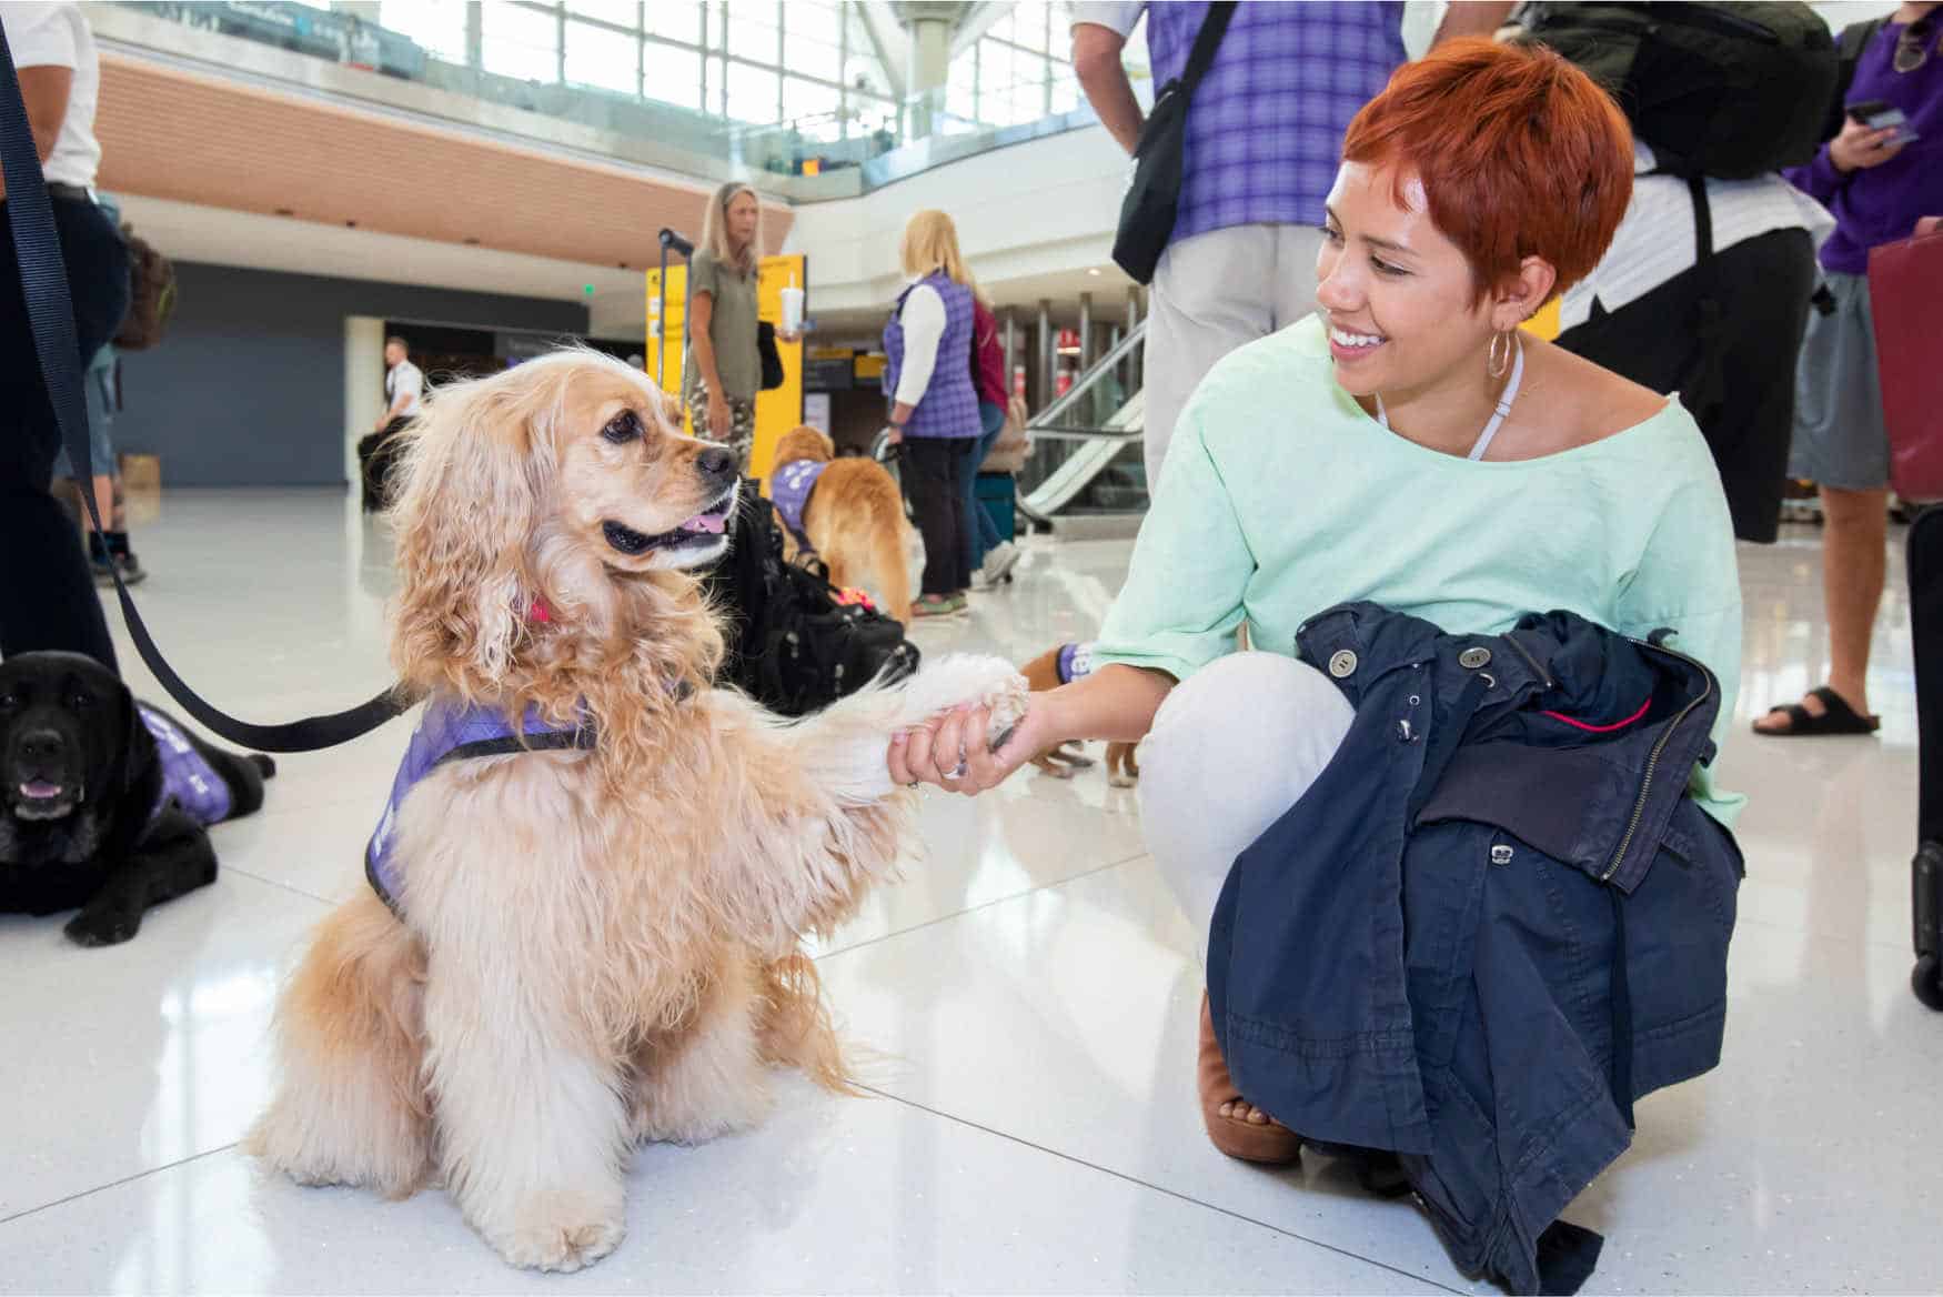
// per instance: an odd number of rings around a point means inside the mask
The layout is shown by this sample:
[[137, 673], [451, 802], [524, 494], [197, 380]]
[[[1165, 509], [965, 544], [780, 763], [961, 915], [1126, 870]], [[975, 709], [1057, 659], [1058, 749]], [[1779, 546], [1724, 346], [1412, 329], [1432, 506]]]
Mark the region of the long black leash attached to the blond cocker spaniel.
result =
[[[47, 397], [60, 424], [60, 439], [68, 461], [82, 480], [82, 500], [97, 533], [107, 533], [101, 509], [87, 482], [93, 478], [93, 459], [87, 449], [87, 418], [82, 404], [82, 356], [74, 334], [74, 299], [68, 296], [68, 270], [60, 261], [60, 235], [54, 231], [54, 206], [47, 196], [47, 177], [41, 175], [41, 156], [27, 124], [27, 107], [14, 74], [14, 51], [0, 31], [0, 173], [6, 175], [6, 214], [14, 231], [14, 251], [19, 257], [19, 286], [27, 299], [27, 321], [33, 327], [33, 350], [41, 362]], [[14, 356], [6, 364], [19, 364]], [[288, 725], [253, 725], [206, 702], [163, 659], [155, 640], [142, 624], [134, 599], [122, 583], [120, 570], [111, 562], [115, 593], [120, 597], [122, 620], [142, 661], [155, 673], [185, 712], [210, 731], [243, 747], [266, 753], [311, 753], [348, 743], [369, 733], [404, 712], [404, 700], [394, 688], [334, 716], [311, 716]]]

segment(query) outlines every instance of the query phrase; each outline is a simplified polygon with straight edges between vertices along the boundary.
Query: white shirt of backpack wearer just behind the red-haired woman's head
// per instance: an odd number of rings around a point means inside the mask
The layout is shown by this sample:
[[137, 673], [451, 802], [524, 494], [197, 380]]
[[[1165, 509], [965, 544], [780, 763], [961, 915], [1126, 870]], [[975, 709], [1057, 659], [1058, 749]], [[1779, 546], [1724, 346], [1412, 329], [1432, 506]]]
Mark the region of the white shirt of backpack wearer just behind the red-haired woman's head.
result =
[[[1694, 204], [1687, 181], [1677, 175], [1646, 175], [1655, 165], [1653, 150], [1634, 140], [1632, 202], [1593, 272], [1560, 298], [1560, 331], [1591, 319], [1593, 298], [1607, 311], [1617, 311], [1673, 276], [1692, 270], [1700, 261], [1694, 243]], [[1706, 202], [1714, 218], [1716, 253], [1772, 229], [1807, 229], [1815, 247], [1821, 247], [1823, 239], [1834, 231], [1834, 218], [1828, 216], [1826, 208], [1780, 175], [1762, 175], [1753, 181], [1710, 179]]]

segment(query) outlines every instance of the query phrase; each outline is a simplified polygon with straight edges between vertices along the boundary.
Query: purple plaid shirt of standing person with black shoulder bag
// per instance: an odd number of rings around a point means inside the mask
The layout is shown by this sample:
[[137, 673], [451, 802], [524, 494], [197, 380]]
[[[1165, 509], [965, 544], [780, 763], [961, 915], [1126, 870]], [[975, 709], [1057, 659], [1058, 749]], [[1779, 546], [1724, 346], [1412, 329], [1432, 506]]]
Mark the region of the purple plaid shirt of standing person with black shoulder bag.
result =
[[[1187, 66], [1207, 0], [1146, 6], [1154, 86]], [[1244, 4], [1187, 105], [1174, 237], [1319, 226], [1343, 132], [1405, 60], [1403, 4]]]

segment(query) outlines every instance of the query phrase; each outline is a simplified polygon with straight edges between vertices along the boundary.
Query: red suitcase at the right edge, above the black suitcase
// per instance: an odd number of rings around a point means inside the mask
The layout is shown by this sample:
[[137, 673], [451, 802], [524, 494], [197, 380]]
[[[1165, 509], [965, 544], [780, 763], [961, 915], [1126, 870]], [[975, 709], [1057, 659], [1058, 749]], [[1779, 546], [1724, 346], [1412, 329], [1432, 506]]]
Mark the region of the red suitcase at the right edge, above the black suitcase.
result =
[[1943, 500], [1943, 229], [1869, 251], [1869, 311], [1889, 484], [1904, 500]]

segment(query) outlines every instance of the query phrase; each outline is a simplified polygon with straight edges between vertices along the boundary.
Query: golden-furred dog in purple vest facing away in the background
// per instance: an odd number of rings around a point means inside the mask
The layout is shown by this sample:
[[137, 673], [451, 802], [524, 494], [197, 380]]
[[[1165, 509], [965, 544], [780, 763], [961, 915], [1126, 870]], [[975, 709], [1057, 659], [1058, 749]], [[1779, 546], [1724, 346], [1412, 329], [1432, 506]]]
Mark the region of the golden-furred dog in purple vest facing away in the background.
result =
[[[909, 618], [909, 550], [915, 531], [903, 515], [903, 494], [896, 478], [874, 459], [837, 459], [830, 438], [816, 428], [797, 428], [775, 443], [767, 478], [771, 492], [777, 469], [801, 461], [830, 465], [802, 506], [802, 531], [830, 568], [830, 583], [863, 589], [886, 616], [900, 622]], [[799, 548], [795, 533], [785, 527], [783, 556], [795, 562]]]

